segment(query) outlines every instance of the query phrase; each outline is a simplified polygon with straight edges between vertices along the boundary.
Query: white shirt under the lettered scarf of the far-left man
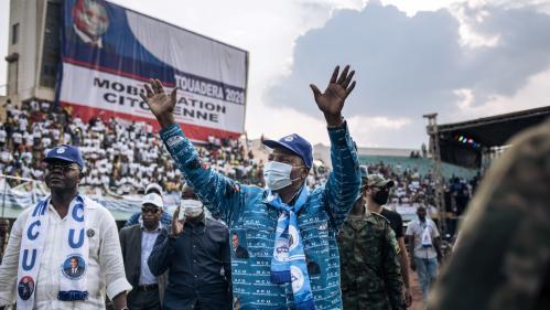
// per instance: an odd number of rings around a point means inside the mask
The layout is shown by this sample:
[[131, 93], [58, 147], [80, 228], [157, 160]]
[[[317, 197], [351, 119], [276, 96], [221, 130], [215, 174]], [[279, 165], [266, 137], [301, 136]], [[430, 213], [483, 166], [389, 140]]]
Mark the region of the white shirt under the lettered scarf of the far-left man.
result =
[[[86, 232], [94, 231], [89, 237], [89, 257], [87, 272], [88, 299], [86, 301], [60, 301], [60, 261], [63, 261], [62, 242], [65, 231], [68, 229], [67, 216], [61, 218], [52, 205], [48, 207], [48, 227], [45, 238], [44, 252], [36, 281], [34, 296], [35, 310], [64, 310], [105, 309], [105, 293], [112, 299], [123, 291], [131, 290], [126, 279], [122, 252], [118, 237], [117, 224], [107, 209], [98, 203], [86, 200]], [[89, 203], [88, 203], [89, 202]], [[17, 277], [21, 235], [26, 225], [29, 213], [34, 207], [29, 207], [21, 213], [11, 231], [10, 240], [0, 265], [0, 306], [13, 303], [17, 299]]]

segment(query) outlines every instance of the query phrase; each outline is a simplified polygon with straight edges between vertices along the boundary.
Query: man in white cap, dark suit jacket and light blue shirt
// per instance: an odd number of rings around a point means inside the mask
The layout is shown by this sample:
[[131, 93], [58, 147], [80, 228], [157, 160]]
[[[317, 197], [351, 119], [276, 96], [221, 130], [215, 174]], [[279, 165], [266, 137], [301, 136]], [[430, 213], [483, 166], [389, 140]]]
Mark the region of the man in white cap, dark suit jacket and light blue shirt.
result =
[[157, 193], [148, 194], [141, 204], [142, 223], [120, 231], [120, 246], [125, 259], [126, 277], [133, 286], [128, 295], [129, 309], [161, 309], [166, 274], [155, 277], [147, 260], [157, 237], [165, 231], [160, 223], [163, 202]]

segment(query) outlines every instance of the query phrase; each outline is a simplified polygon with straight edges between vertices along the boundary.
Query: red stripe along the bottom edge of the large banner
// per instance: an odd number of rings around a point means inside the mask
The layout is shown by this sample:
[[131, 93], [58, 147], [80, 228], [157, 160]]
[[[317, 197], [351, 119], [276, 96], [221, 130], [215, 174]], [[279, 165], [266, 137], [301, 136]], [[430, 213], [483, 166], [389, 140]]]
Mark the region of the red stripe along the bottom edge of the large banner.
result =
[[[111, 117], [122, 118], [127, 120], [136, 120], [136, 121], [144, 121], [153, 127], [154, 131], [160, 130], [160, 125], [151, 115], [151, 118], [144, 116], [137, 116], [127, 113], [112, 111], [108, 109], [97, 108], [97, 107], [88, 107], [78, 104], [61, 101], [62, 106], [71, 106], [73, 108], [72, 116], [78, 116], [86, 124], [93, 117], [101, 118], [104, 121], [108, 121]], [[194, 141], [208, 141], [208, 136], [214, 136], [217, 138], [231, 138], [238, 139], [240, 137], [240, 132], [233, 132], [223, 129], [216, 129], [205, 126], [191, 125], [185, 122], [180, 122], [183, 131], [185, 132], [185, 137]]]

